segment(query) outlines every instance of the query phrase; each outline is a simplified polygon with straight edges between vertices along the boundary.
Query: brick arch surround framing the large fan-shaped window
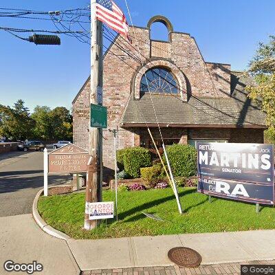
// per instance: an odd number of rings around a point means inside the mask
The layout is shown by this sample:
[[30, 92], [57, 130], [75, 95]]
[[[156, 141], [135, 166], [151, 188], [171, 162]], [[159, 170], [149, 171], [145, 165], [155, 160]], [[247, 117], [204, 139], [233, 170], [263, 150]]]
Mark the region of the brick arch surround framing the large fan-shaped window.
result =
[[[140, 81], [142, 80], [142, 76], [145, 74], [148, 69], [153, 69], [154, 67], [164, 67], [170, 70], [170, 72], [175, 76], [177, 79], [177, 83], [179, 84], [179, 92], [182, 100], [187, 100], [187, 85], [186, 85], [186, 76], [181, 70], [170, 61], [166, 60], [154, 60], [149, 61], [143, 67], [137, 70], [134, 80], [133, 80], [133, 95], [135, 99], [140, 99]], [[185, 93], [182, 90], [186, 91]]]

